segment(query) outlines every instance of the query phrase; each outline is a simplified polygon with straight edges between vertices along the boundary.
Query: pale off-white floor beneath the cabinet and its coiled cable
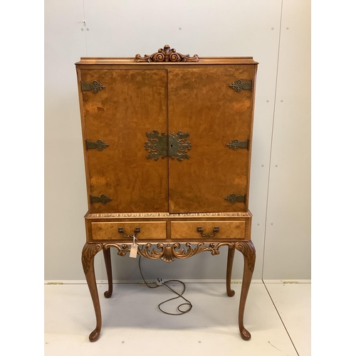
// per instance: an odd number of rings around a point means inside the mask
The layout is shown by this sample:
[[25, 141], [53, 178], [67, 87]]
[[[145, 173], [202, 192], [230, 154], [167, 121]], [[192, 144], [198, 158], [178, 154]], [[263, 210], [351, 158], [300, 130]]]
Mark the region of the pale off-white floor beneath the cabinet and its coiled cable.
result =
[[[237, 325], [241, 283], [233, 284], [232, 298], [224, 283], [186, 286], [192, 310], [173, 316], [157, 307], [175, 296], [164, 286], [115, 284], [107, 299], [107, 285], [98, 284], [103, 328], [99, 340], [90, 342], [95, 315], [88, 286], [45, 285], [45, 355], [310, 355], [310, 283], [253, 281], [245, 311], [249, 341], [241, 339]], [[170, 303], [162, 308], [175, 313], [182, 301]]]

